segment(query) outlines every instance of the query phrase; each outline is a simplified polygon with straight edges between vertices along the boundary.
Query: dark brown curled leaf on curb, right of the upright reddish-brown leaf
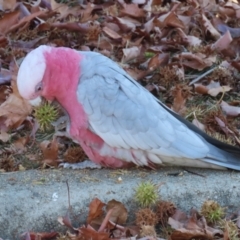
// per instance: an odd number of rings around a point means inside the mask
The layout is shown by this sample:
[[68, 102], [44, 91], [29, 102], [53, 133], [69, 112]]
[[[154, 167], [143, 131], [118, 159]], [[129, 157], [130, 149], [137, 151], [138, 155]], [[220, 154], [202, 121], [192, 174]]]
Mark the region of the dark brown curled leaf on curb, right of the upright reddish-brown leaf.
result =
[[106, 205], [106, 211], [113, 209], [110, 220], [116, 224], [125, 224], [128, 217], [128, 212], [125, 206], [115, 199], [109, 201]]

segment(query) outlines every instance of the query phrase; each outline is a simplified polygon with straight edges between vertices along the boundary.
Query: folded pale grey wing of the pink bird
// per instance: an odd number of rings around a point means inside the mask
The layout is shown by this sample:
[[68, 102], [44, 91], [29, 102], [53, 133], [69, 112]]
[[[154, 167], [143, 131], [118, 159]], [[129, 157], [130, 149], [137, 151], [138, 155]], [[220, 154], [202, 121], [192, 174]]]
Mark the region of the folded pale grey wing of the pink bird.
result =
[[206, 142], [188, 129], [116, 63], [84, 53], [78, 100], [90, 129], [114, 148], [140, 149], [159, 156], [202, 159]]

